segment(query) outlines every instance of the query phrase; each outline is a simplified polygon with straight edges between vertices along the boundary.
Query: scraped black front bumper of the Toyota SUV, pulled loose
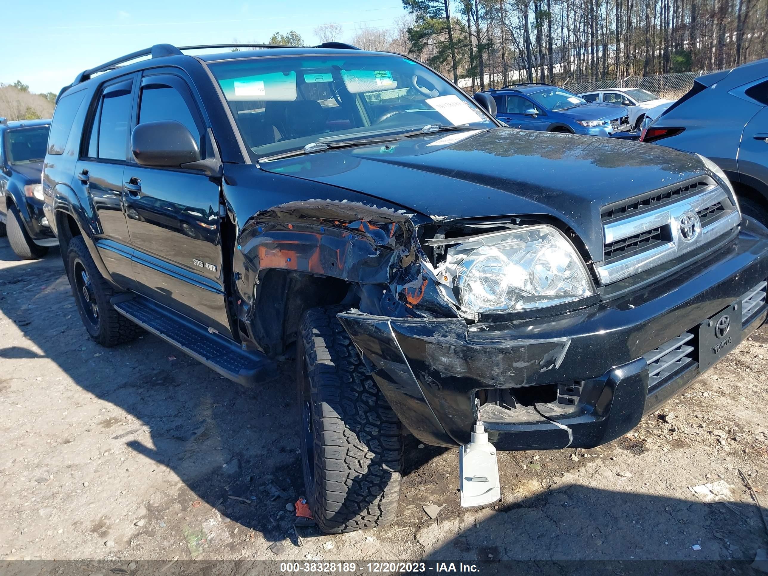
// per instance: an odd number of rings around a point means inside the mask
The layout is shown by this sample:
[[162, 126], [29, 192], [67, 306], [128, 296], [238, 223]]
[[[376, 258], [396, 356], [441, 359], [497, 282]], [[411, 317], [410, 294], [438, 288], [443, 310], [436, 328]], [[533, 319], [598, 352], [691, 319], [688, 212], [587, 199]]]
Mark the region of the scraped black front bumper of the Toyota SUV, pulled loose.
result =
[[[633, 429], [760, 326], [766, 278], [766, 230], [745, 225], [703, 263], [559, 316], [339, 319], [422, 442], [466, 444], [480, 419], [497, 449], [591, 448]], [[729, 323], [727, 336], [713, 336], [715, 323]]]

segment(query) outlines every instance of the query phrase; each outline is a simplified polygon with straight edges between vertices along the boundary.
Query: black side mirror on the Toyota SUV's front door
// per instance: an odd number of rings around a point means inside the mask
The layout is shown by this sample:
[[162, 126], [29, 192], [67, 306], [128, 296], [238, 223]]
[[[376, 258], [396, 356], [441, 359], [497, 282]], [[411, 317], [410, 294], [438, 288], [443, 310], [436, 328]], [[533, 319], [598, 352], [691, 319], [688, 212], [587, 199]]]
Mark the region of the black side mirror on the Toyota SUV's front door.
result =
[[138, 124], [131, 132], [131, 152], [141, 166], [178, 168], [200, 161], [197, 141], [175, 120]]

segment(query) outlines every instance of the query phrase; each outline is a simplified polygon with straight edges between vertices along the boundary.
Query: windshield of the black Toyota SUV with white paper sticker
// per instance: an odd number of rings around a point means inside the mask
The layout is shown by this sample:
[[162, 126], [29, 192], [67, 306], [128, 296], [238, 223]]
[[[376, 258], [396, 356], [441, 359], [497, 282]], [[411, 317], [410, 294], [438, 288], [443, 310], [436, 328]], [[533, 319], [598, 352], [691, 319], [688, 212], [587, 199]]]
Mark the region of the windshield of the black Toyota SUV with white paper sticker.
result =
[[496, 125], [472, 99], [402, 56], [247, 58], [210, 70], [254, 159], [428, 124]]

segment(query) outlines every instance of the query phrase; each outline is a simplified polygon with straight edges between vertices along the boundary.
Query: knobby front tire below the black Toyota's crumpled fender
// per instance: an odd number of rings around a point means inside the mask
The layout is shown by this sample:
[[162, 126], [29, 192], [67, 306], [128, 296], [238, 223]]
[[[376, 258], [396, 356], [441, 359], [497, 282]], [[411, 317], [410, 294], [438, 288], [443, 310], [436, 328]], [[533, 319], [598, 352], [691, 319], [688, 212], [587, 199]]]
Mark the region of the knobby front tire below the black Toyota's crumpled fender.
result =
[[400, 422], [336, 318], [340, 311], [309, 310], [296, 353], [304, 484], [328, 534], [392, 522], [402, 471]]

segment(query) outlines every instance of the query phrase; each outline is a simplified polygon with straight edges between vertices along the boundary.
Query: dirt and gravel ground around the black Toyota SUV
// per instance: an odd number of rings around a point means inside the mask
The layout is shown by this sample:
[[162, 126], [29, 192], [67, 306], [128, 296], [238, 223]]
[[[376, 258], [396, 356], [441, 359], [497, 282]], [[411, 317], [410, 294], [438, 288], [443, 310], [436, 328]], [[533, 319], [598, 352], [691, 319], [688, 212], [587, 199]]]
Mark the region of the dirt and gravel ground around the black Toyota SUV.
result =
[[[409, 437], [396, 524], [323, 536], [293, 528], [290, 366], [244, 390], [149, 334], [102, 349], [58, 251], [0, 238], [0, 559], [751, 561], [768, 538], [739, 470], [768, 505], [766, 368], [763, 327], [630, 435], [503, 453], [493, 508], [462, 510], [457, 452]], [[689, 489], [719, 481], [730, 502]]]

